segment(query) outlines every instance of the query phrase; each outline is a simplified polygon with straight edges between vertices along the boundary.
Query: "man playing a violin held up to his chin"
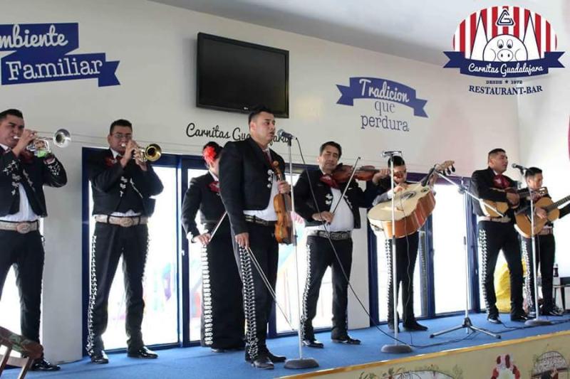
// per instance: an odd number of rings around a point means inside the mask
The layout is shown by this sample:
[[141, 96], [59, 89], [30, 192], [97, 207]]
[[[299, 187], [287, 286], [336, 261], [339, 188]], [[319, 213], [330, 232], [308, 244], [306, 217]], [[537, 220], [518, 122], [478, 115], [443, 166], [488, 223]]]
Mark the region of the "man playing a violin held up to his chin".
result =
[[[296, 213], [305, 220], [307, 233], [307, 277], [303, 295], [302, 333], [305, 346], [323, 348], [315, 338], [313, 319], [321, 281], [330, 266], [333, 279], [333, 328], [331, 340], [334, 343], [358, 345], [356, 338], [348, 335], [346, 307], [348, 304], [348, 280], [351, 275], [353, 241], [351, 232], [361, 227], [360, 207], [368, 207], [369, 198], [356, 181], [348, 183], [350, 172], [345, 178], [335, 179], [338, 159], [342, 148], [336, 142], [321, 145], [317, 158], [318, 170], [305, 170], [295, 184]], [[343, 170], [344, 171], [344, 170]], [[385, 176], [377, 172], [373, 180]], [[372, 177], [372, 176], [371, 176]], [[348, 186], [346, 194], [343, 191]]]

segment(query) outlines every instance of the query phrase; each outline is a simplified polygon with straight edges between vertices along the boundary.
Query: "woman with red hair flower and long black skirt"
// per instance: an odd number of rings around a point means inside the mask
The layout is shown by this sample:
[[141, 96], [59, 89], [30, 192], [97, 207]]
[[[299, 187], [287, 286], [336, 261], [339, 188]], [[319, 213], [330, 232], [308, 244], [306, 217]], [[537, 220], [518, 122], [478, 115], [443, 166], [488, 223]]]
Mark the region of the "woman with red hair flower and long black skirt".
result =
[[[221, 153], [222, 146], [216, 142], [204, 145], [202, 156], [208, 173], [192, 178], [182, 203], [182, 225], [188, 240], [202, 244], [200, 342], [216, 353], [244, 348], [242, 281], [234, 259], [229, 219], [219, 196]], [[196, 225], [198, 210], [204, 233]]]

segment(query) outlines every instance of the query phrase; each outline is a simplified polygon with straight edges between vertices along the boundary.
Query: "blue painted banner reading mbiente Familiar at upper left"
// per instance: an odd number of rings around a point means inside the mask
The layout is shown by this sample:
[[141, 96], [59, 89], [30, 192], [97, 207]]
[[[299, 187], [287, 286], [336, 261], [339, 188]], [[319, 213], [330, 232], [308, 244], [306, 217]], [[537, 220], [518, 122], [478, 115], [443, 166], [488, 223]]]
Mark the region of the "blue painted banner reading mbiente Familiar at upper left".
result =
[[118, 60], [105, 53], [69, 54], [79, 47], [78, 23], [0, 25], [2, 85], [94, 79], [99, 87], [120, 85]]

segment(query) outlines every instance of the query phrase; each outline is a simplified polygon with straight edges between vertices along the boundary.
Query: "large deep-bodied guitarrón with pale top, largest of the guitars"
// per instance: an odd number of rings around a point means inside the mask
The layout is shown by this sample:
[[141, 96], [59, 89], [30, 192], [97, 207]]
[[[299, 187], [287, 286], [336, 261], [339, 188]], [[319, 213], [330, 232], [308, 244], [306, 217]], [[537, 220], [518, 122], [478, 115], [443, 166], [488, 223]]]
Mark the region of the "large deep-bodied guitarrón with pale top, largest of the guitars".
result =
[[[445, 172], [454, 161], [445, 161], [436, 165], [435, 170]], [[454, 169], [455, 171], [455, 169]], [[429, 174], [423, 179], [427, 183]], [[395, 237], [405, 237], [420, 229], [435, 208], [435, 197], [430, 186], [413, 183], [394, 195]], [[383, 230], [386, 238], [392, 237], [392, 200], [383, 201], [368, 211], [368, 220], [376, 230]]]

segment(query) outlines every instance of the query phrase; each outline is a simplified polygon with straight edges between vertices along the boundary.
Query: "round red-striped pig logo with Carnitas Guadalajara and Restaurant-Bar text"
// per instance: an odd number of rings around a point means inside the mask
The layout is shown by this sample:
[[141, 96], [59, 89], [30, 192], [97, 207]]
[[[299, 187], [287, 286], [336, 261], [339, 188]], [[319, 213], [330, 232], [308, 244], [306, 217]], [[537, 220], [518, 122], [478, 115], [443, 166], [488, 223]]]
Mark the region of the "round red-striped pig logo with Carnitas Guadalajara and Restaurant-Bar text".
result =
[[549, 68], [564, 68], [556, 51], [554, 28], [541, 15], [519, 6], [491, 6], [461, 21], [453, 36], [454, 51], [444, 68], [485, 78], [486, 85], [470, 85], [483, 95], [526, 95], [541, 92], [540, 85], [525, 86], [519, 78], [546, 75]]

